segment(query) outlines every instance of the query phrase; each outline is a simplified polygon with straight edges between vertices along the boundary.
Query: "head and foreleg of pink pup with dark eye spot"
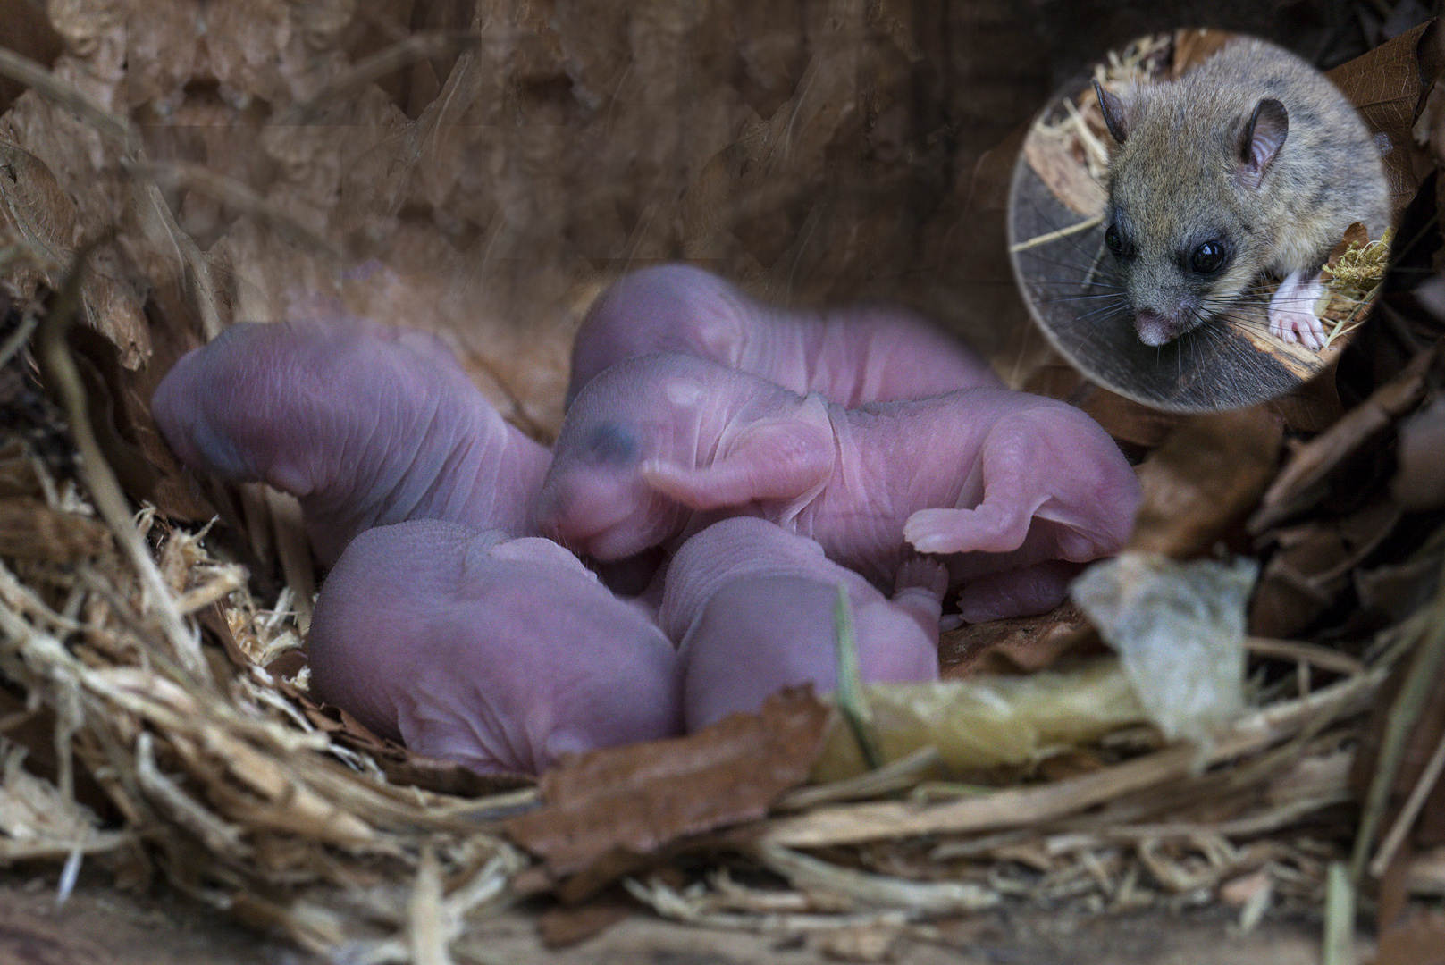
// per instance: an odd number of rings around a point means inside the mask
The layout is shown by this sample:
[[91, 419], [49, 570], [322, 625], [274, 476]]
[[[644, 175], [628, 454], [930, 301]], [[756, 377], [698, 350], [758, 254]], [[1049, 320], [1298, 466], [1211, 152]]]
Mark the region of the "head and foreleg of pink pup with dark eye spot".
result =
[[681, 536], [692, 511], [769, 506], [788, 517], [822, 488], [835, 454], [819, 396], [692, 355], [629, 358], [568, 412], [538, 524], [623, 559]]

